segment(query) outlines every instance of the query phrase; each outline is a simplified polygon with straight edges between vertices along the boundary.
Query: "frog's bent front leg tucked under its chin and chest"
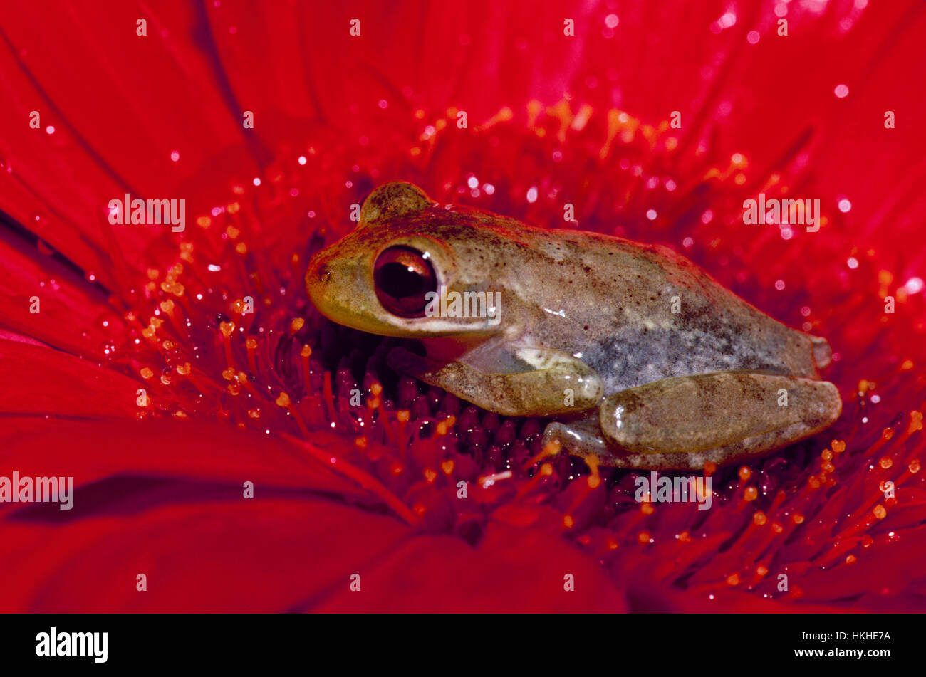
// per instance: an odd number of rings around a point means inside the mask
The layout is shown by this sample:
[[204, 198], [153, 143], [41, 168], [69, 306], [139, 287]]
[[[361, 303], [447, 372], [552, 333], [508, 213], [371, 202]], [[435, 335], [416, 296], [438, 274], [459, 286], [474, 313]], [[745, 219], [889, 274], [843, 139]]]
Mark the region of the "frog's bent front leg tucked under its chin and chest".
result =
[[569, 354], [539, 348], [498, 348], [447, 363], [395, 348], [388, 362], [396, 371], [509, 416], [581, 412], [604, 394], [594, 369]]

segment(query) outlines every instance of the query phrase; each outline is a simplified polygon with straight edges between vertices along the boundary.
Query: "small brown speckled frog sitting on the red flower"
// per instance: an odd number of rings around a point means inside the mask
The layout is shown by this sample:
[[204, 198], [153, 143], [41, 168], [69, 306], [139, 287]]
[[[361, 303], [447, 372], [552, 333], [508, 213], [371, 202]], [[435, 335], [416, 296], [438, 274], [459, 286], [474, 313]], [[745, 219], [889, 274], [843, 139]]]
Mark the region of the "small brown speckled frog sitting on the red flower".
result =
[[438, 203], [407, 181], [370, 192], [305, 282], [332, 322], [394, 338], [399, 374], [488, 412], [542, 417], [544, 449], [595, 467], [749, 462], [842, 412], [820, 377], [826, 339], [669, 247]]

